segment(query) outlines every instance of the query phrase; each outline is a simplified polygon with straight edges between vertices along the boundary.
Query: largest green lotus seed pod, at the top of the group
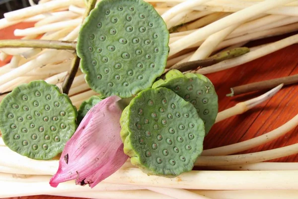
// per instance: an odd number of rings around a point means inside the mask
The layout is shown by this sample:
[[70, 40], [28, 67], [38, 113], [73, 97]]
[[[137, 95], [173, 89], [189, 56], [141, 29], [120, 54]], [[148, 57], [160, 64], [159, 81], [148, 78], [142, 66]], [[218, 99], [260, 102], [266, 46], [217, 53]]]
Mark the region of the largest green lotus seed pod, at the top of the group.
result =
[[150, 88], [166, 66], [169, 32], [143, 0], [101, 0], [77, 41], [80, 69], [102, 96], [129, 98]]

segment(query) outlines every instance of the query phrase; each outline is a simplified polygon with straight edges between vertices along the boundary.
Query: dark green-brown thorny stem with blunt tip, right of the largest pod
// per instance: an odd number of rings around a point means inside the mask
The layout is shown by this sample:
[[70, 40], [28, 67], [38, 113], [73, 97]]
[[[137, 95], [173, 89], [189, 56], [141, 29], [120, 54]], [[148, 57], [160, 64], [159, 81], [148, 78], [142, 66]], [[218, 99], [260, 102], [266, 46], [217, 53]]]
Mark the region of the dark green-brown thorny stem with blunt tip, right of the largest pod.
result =
[[190, 61], [190, 62], [174, 65], [173, 67], [171, 67], [171, 69], [177, 69], [181, 72], [195, 70], [195, 69], [198, 70], [200, 68], [211, 66], [227, 59], [239, 57], [248, 52], [249, 52], [249, 48], [247, 47], [234, 48], [231, 50], [220, 52], [214, 56], [211, 56], [203, 60]]

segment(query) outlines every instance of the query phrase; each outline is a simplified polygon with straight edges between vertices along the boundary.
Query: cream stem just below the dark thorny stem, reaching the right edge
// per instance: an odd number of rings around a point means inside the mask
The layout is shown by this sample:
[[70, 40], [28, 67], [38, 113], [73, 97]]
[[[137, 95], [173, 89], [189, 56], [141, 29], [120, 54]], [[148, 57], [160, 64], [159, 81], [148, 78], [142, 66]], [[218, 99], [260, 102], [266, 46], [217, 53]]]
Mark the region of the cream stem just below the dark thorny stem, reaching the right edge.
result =
[[287, 46], [290, 46], [292, 44], [295, 44], [298, 42], [298, 34], [287, 37], [285, 39], [273, 42], [271, 44], [268, 44], [262, 48], [259, 48], [257, 50], [251, 51], [249, 53], [246, 53], [240, 57], [236, 57], [233, 59], [225, 60], [221, 63], [214, 64], [212, 66], [199, 69], [197, 73], [200, 74], [208, 74], [208, 73], [214, 73], [218, 71], [223, 71], [225, 69], [229, 69], [235, 66], [239, 66], [241, 64], [250, 62], [252, 60], [255, 60], [257, 58], [263, 57], [265, 55], [268, 55], [270, 53], [273, 53], [275, 51], [278, 51], [282, 48], [285, 48]]

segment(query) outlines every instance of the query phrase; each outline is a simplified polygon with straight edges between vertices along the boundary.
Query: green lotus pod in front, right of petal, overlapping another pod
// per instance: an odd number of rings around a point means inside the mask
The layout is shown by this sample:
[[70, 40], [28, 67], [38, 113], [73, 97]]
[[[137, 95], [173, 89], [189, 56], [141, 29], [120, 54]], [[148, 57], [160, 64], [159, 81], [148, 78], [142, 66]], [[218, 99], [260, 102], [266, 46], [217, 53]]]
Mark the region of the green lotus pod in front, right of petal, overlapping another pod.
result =
[[148, 175], [191, 171], [203, 151], [204, 122], [191, 103], [166, 88], [140, 92], [120, 124], [124, 153]]

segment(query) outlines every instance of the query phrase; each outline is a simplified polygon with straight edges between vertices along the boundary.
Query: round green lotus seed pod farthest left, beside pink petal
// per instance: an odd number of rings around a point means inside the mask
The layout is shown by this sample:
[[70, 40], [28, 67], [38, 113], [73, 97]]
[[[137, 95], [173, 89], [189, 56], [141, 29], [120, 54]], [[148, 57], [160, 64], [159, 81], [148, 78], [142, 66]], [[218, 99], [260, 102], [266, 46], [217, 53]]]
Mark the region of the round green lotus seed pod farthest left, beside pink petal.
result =
[[42, 80], [23, 84], [0, 103], [0, 131], [6, 146], [32, 159], [62, 152], [76, 129], [77, 111], [58, 87]]

